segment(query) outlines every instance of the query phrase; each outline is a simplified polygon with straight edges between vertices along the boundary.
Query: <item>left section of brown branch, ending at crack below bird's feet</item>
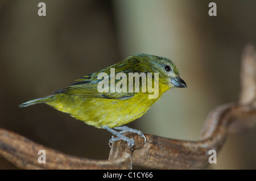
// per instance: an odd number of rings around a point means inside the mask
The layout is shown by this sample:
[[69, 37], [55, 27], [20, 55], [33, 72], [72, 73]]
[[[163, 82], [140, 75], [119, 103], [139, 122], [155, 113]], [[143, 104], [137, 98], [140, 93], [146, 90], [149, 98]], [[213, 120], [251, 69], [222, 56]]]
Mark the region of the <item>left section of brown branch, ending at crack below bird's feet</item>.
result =
[[[0, 129], [0, 140], [0, 155], [21, 169], [131, 169], [132, 149], [121, 142], [114, 144], [110, 161], [96, 161], [60, 153], [5, 129]], [[39, 150], [46, 151], [47, 163], [38, 163]]]

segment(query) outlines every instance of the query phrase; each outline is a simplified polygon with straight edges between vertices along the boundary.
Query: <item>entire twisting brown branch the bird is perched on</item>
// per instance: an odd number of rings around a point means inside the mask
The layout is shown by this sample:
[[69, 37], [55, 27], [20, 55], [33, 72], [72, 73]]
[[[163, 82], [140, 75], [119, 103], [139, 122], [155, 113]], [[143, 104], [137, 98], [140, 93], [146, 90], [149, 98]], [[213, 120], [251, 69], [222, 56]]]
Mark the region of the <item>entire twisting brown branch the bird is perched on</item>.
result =
[[[242, 55], [241, 94], [238, 103], [225, 104], [209, 113], [200, 141], [183, 141], [137, 134], [134, 148], [114, 142], [109, 160], [96, 161], [60, 153], [36, 144], [16, 133], [0, 129], [0, 155], [22, 169], [131, 169], [132, 164], [153, 169], [203, 169], [209, 165], [208, 151], [217, 152], [229, 133], [244, 132], [256, 124], [256, 52], [247, 45]], [[38, 151], [45, 150], [47, 163], [38, 163]]]

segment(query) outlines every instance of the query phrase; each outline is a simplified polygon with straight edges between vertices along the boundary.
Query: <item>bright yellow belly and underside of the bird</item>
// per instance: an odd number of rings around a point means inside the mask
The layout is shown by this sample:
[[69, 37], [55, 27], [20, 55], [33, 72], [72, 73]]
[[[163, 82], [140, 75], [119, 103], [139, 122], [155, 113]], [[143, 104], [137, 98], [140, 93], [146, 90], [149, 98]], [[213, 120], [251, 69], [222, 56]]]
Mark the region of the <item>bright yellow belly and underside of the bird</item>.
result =
[[113, 128], [138, 119], [158, 99], [148, 99], [148, 95], [145, 93], [138, 93], [127, 100], [57, 94], [55, 99], [47, 104], [94, 127]]

